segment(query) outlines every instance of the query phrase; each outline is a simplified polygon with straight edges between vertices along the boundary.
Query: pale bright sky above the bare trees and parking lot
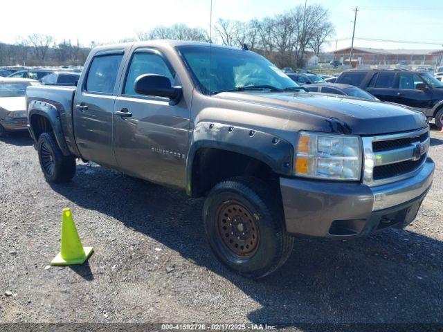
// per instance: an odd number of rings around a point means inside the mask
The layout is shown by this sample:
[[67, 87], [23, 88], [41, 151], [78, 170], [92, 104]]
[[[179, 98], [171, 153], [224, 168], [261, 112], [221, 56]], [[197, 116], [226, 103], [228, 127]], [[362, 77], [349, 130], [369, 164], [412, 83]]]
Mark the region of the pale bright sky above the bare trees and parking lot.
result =
[[[354, 9], [356, 47], [443, 48], [443, 0], [306, 0], [329, 10], [336, 33], [324, 50], [350, 46]], [[109, 43], [136, 37], [154, 26], [184, 23], [209, 28], [210, 0], [3, 0], [0, 42], [14, 43], [32, 33], [91, 42]], [[17, 3], [19, 3], [19, 7]], [[285, 12], [305, 0], [213, 0], [213, 22], [219, 17], [248, 21]], [[381, 42], [363, 39], [388, 39]], [[406, 43], [403, 43], [406, 42]], [[422, 43], [422, 44], [419, 44]]]

